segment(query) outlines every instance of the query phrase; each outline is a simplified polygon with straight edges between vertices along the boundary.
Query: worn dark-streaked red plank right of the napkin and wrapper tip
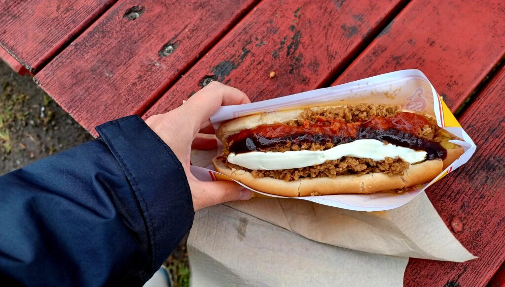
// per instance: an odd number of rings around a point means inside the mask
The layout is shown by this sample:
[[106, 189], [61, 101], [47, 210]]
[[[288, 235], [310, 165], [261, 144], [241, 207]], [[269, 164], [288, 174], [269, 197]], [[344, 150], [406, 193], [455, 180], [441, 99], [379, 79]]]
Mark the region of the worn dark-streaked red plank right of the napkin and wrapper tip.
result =
[[459, 118], [477, 144], [468, 163], [427, 190], [456, 238], [479, 258], [411, 259], [406, 286], [484, 286], [505, 260], [505, 68]]

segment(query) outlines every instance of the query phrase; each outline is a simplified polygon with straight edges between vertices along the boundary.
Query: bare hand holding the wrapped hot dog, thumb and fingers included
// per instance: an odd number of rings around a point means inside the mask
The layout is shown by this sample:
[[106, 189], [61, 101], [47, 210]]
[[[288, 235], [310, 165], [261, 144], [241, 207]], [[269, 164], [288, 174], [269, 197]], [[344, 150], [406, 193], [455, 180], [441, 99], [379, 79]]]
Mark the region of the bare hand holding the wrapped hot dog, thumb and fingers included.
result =
[[248, 200], [252, 192], [234, 182], [201, 182], [189, 171], [191, 147], [211, 149], [216, 139], [198, 137], [198, 132], [212, 133], [209, 118], [222, 105], [249, 103], [247, 96], [232, 87], [213, 81], [192, 95], [180, 107], [164, 114], [149, 117], [145, 123], [172, 149], [182, 163], [193, 197], [193, 208], [198, 210], [219, 203]]

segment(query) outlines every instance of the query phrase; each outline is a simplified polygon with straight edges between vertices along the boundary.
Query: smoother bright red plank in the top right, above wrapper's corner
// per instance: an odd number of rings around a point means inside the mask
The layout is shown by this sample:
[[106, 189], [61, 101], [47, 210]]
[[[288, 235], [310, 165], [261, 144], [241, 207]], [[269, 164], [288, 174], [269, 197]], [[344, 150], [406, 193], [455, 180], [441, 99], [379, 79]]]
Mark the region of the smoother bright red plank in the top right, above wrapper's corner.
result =
[[419, 69], [452, 110], [505, 54], [505, 2], [414, 0], [334, 84]]

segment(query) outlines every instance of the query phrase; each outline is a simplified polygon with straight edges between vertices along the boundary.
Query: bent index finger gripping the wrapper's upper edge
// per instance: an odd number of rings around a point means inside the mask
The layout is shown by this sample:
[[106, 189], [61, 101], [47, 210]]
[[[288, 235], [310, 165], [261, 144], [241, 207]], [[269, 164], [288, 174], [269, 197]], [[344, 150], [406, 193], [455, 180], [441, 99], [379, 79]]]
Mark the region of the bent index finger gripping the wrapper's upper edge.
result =
[[206, 127], [209, 118], [222, 105], [235, 105], [249, 103], [246, 94], [238, 89], [223, 85], [217, 81], [212, 81], [205, 88], [192, 95], [186, 103], [176, 109], [182, 114], [188, 115], [188, 121], [196, 129]]

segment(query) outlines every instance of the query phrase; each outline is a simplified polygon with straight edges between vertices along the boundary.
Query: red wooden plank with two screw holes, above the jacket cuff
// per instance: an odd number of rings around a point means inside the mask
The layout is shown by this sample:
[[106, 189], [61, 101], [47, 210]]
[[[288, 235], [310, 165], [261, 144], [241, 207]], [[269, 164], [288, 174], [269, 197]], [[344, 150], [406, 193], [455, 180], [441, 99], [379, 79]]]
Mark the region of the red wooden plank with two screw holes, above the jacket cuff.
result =
[[119, 1], [35, 80], [94, 133], [144, 110], [255, 2]]

